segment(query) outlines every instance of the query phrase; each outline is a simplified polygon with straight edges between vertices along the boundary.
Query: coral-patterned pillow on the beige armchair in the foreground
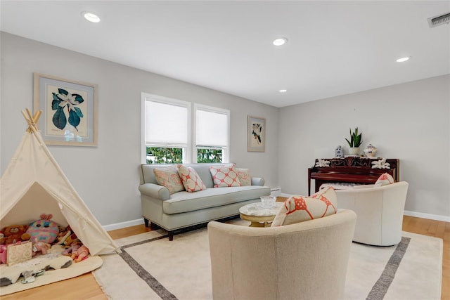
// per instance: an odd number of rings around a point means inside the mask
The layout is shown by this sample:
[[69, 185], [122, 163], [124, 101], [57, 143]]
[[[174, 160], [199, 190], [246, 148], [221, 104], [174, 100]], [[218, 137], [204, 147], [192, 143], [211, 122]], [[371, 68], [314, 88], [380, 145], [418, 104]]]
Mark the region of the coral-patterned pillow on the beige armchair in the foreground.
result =
[[335, 214], [338, 200], [335, 189], [324, 188], [311, 197], [293, 195], [285, 200], [271, 226], [283, 226]]

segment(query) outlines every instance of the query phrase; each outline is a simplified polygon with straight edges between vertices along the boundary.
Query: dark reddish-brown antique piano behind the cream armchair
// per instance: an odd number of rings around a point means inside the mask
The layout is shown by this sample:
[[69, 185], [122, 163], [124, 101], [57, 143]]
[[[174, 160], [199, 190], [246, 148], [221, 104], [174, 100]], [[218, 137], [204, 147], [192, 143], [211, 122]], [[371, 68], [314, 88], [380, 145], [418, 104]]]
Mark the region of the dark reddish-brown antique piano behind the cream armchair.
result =
[[315, 180], [316, 192], [323, 183], [373, 184], [383, 173], [389, 173], [399, 181], [399, 159], [349, 156], [331, 159], [316, 159], [314, 167], [308, 169], [308, 195], [311, 195], [311, 180]]

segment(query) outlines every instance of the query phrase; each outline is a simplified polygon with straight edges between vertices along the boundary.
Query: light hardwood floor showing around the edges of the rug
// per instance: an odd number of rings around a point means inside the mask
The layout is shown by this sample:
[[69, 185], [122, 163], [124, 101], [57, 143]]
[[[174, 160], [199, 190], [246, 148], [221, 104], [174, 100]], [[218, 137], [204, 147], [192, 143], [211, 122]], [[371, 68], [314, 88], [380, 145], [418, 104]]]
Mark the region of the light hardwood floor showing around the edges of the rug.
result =
[[[113, 239], [127, 237], [144, 233], [149, 229], [143, 225], [132, 226], [119, 230], [109, 231]], [[444, 240], [444, 257], [442, 260], [442, 295], [441, 300], [450, 300], [450, 223], [434, 221], [430, 219], [420, 219], [412, 216], [404, 216], [403, 230], [420, 235], [430, 235], [440, 237]], [[176, 237], [175, 237], [176, 239]], [[91, 273], [56, 282], [44, 287], [28, 289], [11, 295], [0, 297], [0, 299], [86, 299], [105, 300], [105, 294], [101, 291], [94, 276]]]

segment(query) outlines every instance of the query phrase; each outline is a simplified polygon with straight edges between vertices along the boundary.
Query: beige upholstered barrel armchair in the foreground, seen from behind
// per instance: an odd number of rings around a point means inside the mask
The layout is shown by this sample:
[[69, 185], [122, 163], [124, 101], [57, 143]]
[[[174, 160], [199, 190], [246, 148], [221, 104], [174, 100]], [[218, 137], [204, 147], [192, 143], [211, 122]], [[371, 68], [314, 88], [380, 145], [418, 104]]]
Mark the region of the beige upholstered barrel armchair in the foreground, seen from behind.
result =
[[208, 223], [213, 299], [342, 299], [351, 210], [286, 226]]

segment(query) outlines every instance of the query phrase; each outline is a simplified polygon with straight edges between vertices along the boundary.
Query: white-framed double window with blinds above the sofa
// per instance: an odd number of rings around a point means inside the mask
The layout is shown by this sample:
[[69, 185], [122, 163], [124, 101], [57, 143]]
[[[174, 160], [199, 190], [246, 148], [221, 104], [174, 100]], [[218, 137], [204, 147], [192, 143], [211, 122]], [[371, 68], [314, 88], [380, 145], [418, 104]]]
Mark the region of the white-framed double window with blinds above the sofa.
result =
[[191, 112], [189, 102], [146, 93], [142, 103], [143, 162], [229, 161], [229, 110], [195, 103]]

